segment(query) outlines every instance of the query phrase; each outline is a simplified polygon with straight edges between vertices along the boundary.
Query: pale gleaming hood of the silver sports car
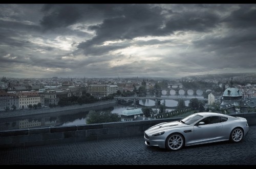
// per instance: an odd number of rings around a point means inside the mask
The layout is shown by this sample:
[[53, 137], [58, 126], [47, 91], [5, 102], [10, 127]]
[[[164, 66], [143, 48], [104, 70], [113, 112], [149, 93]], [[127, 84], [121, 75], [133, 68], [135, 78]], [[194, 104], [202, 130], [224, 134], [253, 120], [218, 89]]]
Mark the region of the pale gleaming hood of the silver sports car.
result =
[[155, 132], [159, 132], [159, 131], [164, 131], [164, 130], [168, 130], [168, 129], [172, 129], [172, 128], [177, 128], [177, 127], [183, 127], [183, 126], [187, 126], [187, 125], [183, 124], [181, 122], [178, 122], [178, 121], [165, 122], [165, 123], [160, 123], [160, 124], [157, 124], [155, 126], [152, 126], [152, 127], [148, 128], [145, 131], [145, 133], [146, 134], [151, 134], [151, 133], [155, 133]]

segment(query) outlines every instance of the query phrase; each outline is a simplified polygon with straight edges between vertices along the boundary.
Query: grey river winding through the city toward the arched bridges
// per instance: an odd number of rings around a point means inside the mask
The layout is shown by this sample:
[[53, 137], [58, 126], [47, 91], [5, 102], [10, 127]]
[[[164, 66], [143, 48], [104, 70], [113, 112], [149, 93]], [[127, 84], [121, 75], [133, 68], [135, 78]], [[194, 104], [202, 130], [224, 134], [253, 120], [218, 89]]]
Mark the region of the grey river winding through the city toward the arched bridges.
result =
[[[189, 100], [185, 101], [185, 105], [188, 106]], [[163, 104], [163, 100], [161, 100]], [[178, 101], [175, 100], [165, 100], [165, 105], [167, 107], [177, 106]], [[144, 99], [139, 101], [139, 105], [142, 106], [154, 106], [155, 101], [151, 99]], [[141, 108], [138, 105], [138, 108]], [[134, 107], [133, 102], [126, 105], [116, 104], [111, 107], [106, 106], [97, 106], [92, 107], [91, 110], [110, 110], [112, 113], [121, 114], [123, 110], [128, 107]], [[155, 110], [156, 108], [153, 108]], [[166, 109], [172, 111], [174, 109]], [[0, 131], [10, 130], [10, 129], [23, 129], [23, 128], [44, 128], [44, 127], [53, 127], [53, 126], [71, 126], [71, 125], [84, 125], [86, 124], [86, 119], [89, 111], [81, 111], [75, 114], [61, 114], [59, 112], [49, 113], [49, 114], [40, 114], [40, 115], [31, 115], [31, 116], [21, 116], [15, 118], [5, 118], [0, 119]]]

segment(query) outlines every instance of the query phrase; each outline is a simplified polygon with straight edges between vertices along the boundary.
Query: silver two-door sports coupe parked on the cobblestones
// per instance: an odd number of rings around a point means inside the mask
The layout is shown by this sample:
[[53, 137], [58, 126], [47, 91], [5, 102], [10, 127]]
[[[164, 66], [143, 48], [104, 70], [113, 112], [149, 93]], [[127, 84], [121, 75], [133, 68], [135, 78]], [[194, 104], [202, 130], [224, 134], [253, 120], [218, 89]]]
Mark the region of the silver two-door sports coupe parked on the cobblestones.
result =
[[160, 123], [145, 130], [147, 146], [177, 151], [184, 146], [230, 140], [239, 143], [248, 133], [247, 120], [216, 112], [198, 112], [181, 120]]

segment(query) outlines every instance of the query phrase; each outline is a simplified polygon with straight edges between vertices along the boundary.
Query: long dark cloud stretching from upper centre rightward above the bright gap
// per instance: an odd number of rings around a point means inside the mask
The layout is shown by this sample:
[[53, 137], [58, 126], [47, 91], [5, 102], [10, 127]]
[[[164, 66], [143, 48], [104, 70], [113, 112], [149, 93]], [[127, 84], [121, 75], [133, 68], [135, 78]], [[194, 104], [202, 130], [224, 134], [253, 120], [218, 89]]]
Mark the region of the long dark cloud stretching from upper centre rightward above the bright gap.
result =
[[[108, 40], [133, 39], [144, 36], [165, 36], [174, 31], [207, 31], [214, 28], [219, 16], [215, 13], [191, 11], [173, 12], [168, 10], [170, 18], [164, 17], [159, 7], [126, 6], [122, 15], [103, 20], [101, 24], [90, 26], [96, 32], [91, 40], [80, 43], [77, 47], [86, 54], [94, 53], [94, 45]], [[88, 48], [91, 48], [89, 51]], [[97, 48], [95, 48], [97, 50]], [[108, 52], [108, 50], [106, 50]]]

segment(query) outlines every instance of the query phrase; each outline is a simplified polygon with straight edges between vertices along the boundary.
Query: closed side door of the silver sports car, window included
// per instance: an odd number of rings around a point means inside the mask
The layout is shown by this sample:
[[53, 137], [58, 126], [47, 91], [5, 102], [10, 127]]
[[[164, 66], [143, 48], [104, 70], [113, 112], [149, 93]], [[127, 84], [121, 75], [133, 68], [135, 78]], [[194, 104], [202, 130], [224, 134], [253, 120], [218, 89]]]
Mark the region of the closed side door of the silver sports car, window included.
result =
[[219, 116], [210, 116], [200, 122], [205, 124], [194, 126], [194, 144], [215, 142], [221, 137], [222, 123]]

